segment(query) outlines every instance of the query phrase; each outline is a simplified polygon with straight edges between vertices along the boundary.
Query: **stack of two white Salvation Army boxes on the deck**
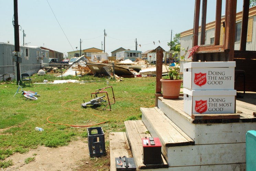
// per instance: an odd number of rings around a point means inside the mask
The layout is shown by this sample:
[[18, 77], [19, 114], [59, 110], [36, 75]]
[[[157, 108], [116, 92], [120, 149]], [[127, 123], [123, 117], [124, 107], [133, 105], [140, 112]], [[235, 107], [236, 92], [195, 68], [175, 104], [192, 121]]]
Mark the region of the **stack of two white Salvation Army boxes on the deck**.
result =
[[186, 114], [235, 113], [235, 62], [190, 62], [183, 68]]

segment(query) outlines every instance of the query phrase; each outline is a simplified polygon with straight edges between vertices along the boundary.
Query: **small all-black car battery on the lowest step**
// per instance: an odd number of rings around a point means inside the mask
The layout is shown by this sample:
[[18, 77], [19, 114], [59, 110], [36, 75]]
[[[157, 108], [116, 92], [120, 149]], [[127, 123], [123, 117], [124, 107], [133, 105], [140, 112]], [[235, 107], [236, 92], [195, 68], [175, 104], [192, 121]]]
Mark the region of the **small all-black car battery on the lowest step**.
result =
[[136, 166], [133, 158], [119, 157], [115, 158], [116, 160], [116, 170], [130, 170], [136, 171]]

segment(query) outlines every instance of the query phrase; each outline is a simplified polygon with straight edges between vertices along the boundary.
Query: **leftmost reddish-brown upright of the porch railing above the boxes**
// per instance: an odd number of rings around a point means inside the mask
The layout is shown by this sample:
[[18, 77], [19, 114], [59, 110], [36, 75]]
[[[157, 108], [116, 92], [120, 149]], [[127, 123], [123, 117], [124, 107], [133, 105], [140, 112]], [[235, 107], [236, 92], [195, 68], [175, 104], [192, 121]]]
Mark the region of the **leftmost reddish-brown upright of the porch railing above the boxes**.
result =
[[195, 0], [193, 47], [198, 45], [199, 14], [200, 14], [200, 0]]

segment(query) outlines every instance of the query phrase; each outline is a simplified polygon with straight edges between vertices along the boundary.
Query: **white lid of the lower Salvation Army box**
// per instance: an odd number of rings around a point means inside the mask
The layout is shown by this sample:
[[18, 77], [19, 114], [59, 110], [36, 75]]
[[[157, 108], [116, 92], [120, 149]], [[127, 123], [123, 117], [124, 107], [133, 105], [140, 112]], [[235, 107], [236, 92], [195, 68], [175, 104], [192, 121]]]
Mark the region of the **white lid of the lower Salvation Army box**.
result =
[[188, 90], [184, 88], [183, 93], [191, 96], [235, 96], [236, 90]]

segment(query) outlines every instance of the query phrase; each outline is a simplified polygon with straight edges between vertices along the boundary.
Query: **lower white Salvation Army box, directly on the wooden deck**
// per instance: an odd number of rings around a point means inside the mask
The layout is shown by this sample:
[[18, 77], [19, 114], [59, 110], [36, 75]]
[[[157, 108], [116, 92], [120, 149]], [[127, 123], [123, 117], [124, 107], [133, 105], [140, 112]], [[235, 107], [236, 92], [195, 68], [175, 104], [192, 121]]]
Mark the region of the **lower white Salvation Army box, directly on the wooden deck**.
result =
[[191, 114], [235, 113], [236, 90], [188, 90], [183, 89], [184, 112]]

